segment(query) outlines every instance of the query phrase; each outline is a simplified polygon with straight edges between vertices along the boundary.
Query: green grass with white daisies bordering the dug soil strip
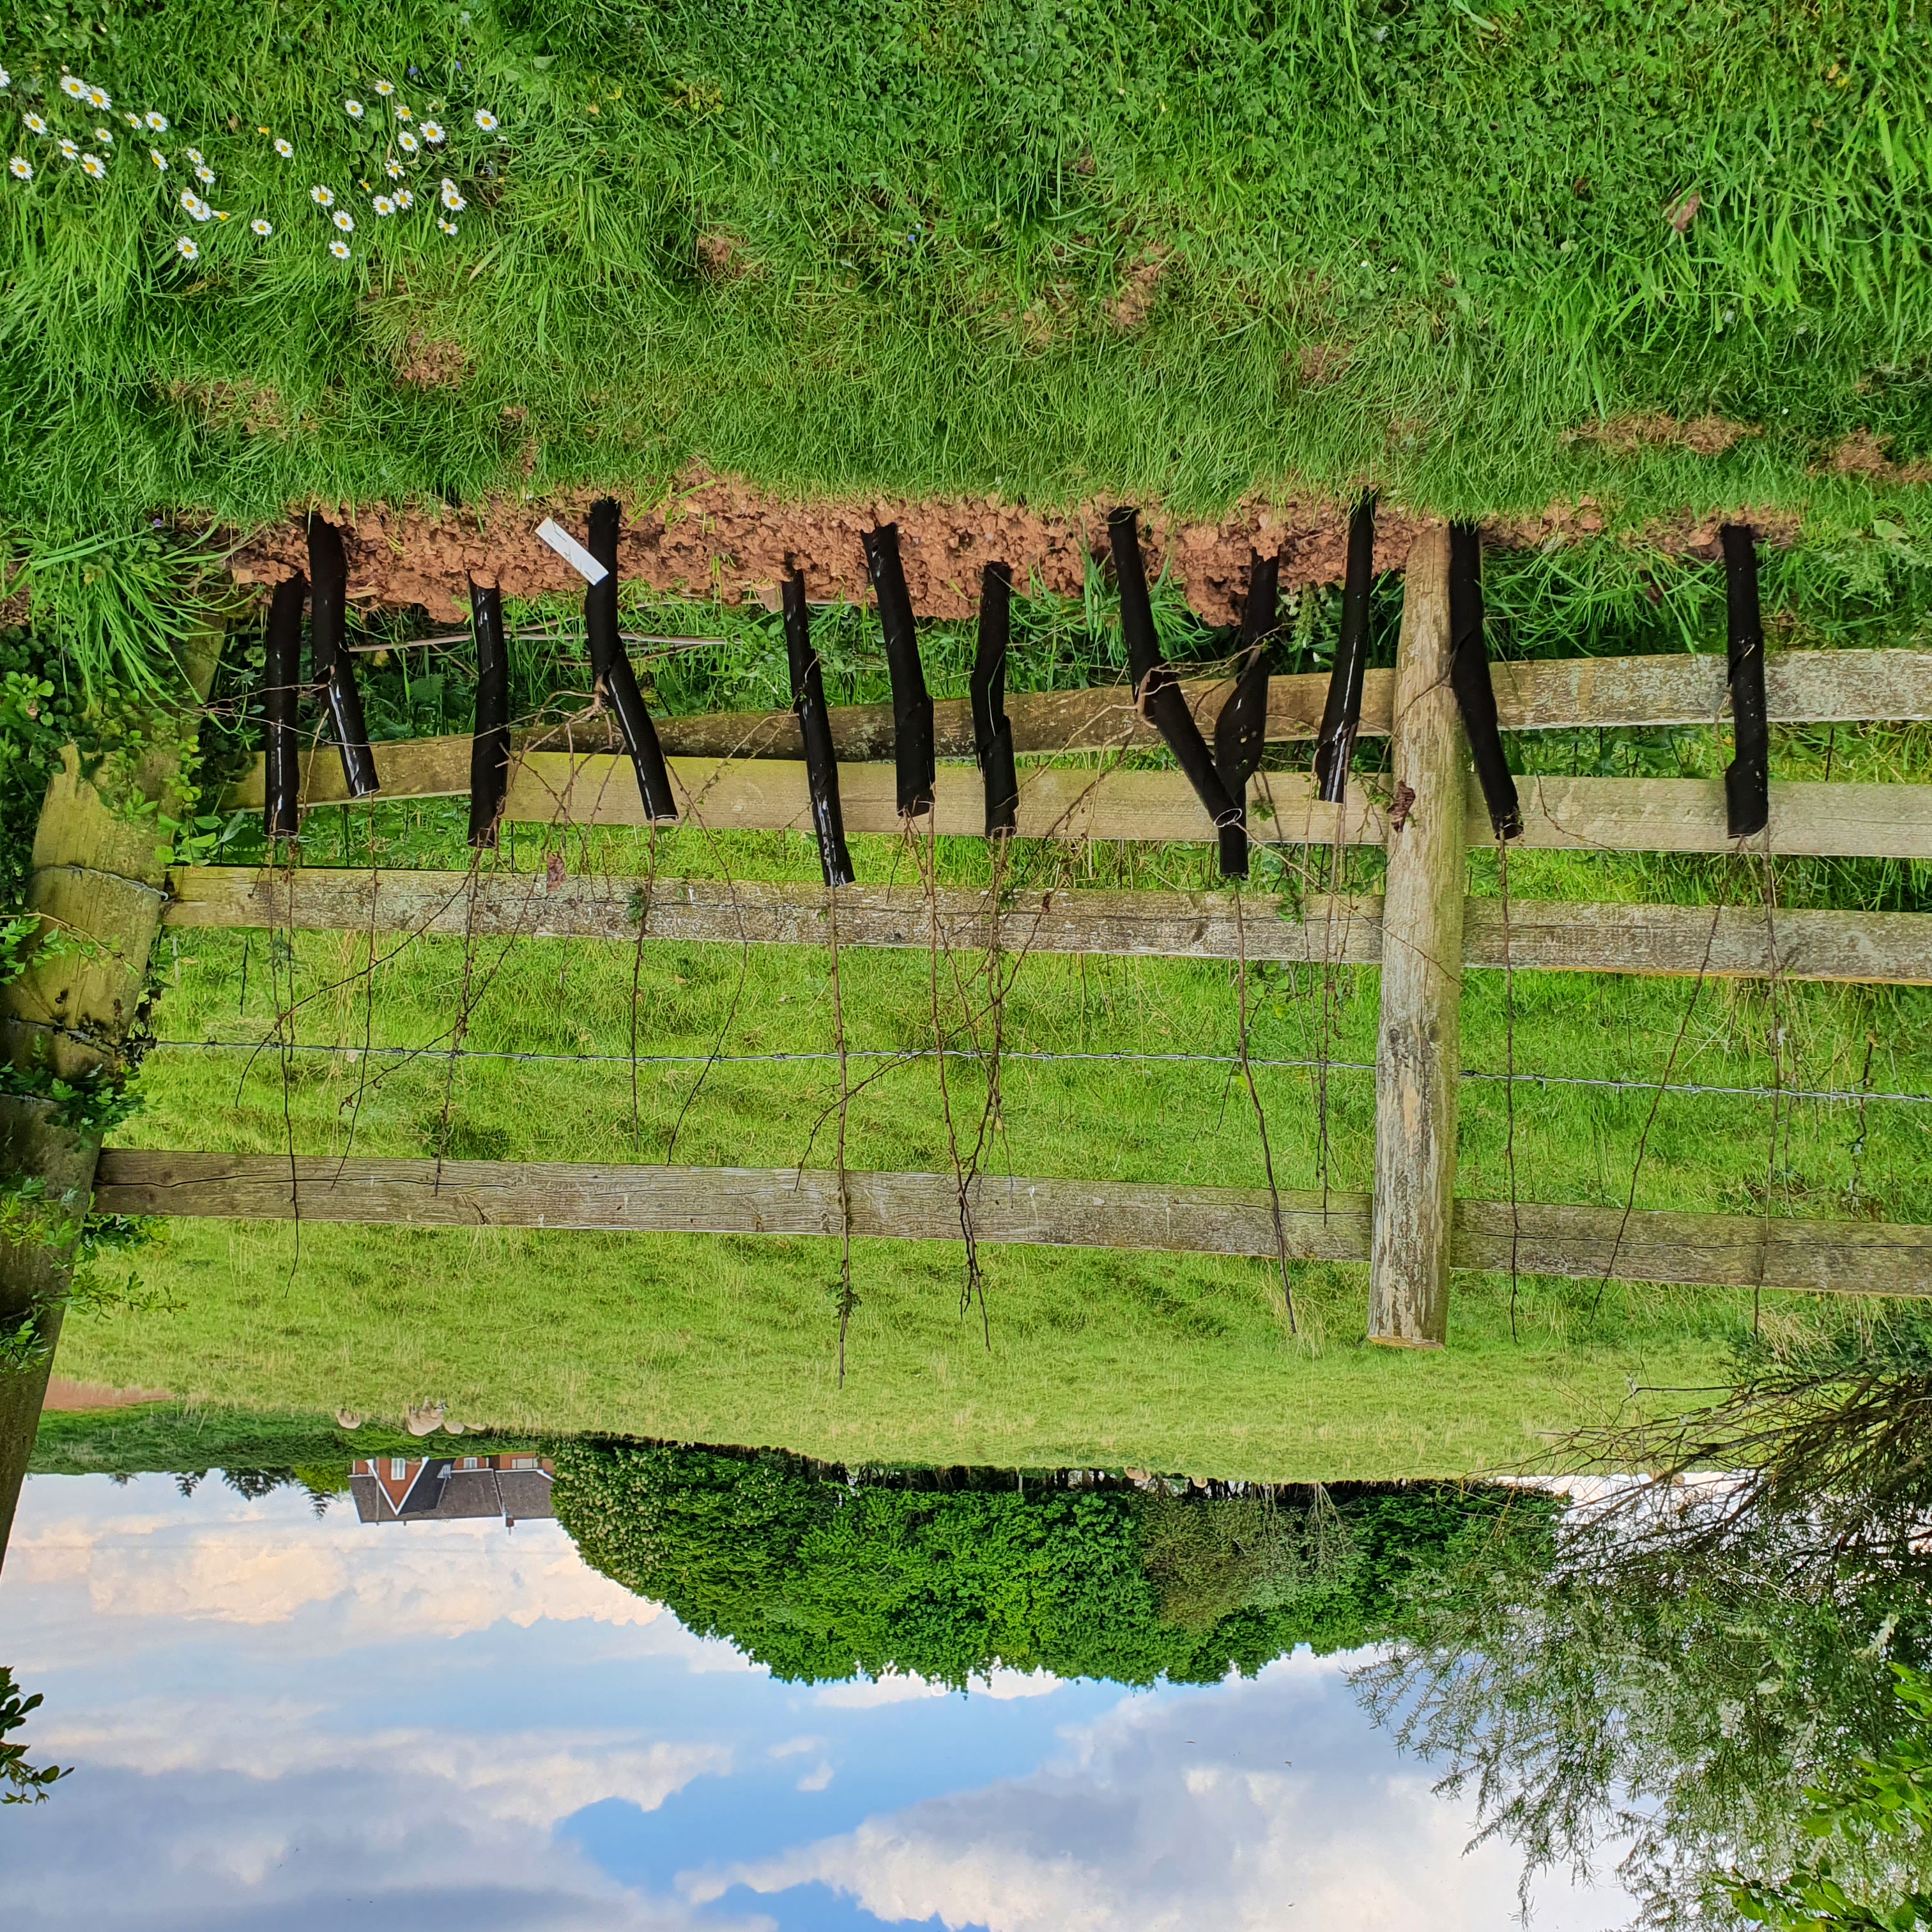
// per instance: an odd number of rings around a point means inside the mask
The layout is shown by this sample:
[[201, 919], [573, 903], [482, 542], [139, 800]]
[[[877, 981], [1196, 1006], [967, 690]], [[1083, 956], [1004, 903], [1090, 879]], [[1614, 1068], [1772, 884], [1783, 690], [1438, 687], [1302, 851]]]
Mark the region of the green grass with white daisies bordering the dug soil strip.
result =
[[[97, 674], [139, 649], [108, 626], [155, 595], [156, 518], [657, 498], [690, 466], [1186, 512], [1590, 493], [1617, 529], [1758, 504], [1920, 543], [1913, 491], [1816, 471], [1855, 433], [1932, 448], [1928, 25], [1913, 0], [15, 4], [8, 93], [50, 129], [0, 182], [8, 529]], [[446, 141], [404, 156], [396, 102]], [[120, 118], [149, 108], [166, 133]], [[191, 145], [226, 222], [180, 207]], [[371, 207], [384, 158], [408, 214]], [[313, 185], [354, 209], [348, 261]], [[1743, 435], [1571, 435], [1660, 412]]]

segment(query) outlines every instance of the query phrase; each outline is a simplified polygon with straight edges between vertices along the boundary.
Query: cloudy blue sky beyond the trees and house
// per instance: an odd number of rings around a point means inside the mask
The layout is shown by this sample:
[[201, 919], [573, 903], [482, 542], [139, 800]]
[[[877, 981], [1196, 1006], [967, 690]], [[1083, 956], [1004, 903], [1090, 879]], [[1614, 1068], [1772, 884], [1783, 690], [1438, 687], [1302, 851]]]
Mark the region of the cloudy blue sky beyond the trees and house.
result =
[[[556, 1522], [317, 1520], [303, 1492], [33, 1476], [0, 1662], [46, 1804], [0, 1808], [10, 1932], [1492, 1932], [1349, 1658], [1128, 1690], [786, 1685]], [[1540, 1932], [1629, 1922], [1611, 1880]]]

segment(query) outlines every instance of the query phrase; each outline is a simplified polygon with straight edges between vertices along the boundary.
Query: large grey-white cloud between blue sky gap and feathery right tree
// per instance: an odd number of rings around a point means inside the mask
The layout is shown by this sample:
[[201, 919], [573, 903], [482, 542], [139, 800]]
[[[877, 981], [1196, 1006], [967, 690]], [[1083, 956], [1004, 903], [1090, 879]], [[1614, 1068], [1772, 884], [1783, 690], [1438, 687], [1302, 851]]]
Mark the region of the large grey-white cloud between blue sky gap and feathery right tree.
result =
[[[1464, 1857], [1466, 1810], [1368, 1731], [1335, 1660], [1126, 1698], [1066, 1745], [1026, 1777], [688, 1874], [686, 1891], [701, 1903], [732, 1884], [821, 1882], [885, 1920], [991, 1932], [1492, 1932], [1513, 1905], [1513, 1855]], [[1619, 1907], [1615, 1893], [1559, 1893], [1538, 1924], [1594, 1928]]]

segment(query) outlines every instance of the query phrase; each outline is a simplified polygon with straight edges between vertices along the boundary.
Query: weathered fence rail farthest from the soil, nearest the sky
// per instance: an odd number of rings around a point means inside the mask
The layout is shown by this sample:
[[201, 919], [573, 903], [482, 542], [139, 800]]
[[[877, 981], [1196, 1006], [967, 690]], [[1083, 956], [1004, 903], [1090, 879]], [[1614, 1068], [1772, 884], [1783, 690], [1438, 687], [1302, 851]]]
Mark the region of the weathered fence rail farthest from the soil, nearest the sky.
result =
[[[850, 1173], [852, 1231], [866, 1238], [958, 1240], [951, 1175]], [[609, 1233], [835, 1236], [831, 1169], [599, 1167], [562, 1161], [338, 1159], [282, 1153], [100, 1155], [99, 1213], [398, 1227], [547, 1227]], [[1283, 1192], [1289, 1254], [1362, 1262], [1362, 1194]], [[1762, 1221], [1756, 1215], [1646, 1213], [1524, 1202], [1515, 1211], [1526, 1273], [1750, 1287], [1832, 1294], [1932, 1294], [1932, 1229], [1872, 1221]], [[1619, 1238], [1621, 1229], [1621, 1238]], [[1175, 1188], [1121, 1180], [983, 1177], [980, 1240], [1275, 1254], [1264, 1188]], [[1457, 1202], [1451, 1265], [1505, 1269], [1509, 1202]]]

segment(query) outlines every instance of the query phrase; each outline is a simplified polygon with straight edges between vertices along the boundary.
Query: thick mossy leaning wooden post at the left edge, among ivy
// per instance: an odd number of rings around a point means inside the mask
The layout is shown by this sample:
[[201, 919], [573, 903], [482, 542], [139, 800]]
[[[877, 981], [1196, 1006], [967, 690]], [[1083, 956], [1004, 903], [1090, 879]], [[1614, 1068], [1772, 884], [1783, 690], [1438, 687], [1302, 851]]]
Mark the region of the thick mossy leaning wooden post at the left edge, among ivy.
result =
[[[220, 641], [220, 630], [209, 630], [184, 651], [193, 705], [207, 697], [214, 680]], [[160, 744], [128, 775], [128, 788], [139, 800], [164, 806], [178, 779], [180, 755]], [[25, 972], [0, 987], [0, 1055], [14, 1066], [46, 1068], [70, 1082], [122, 1070], [122, 1047], [168, 906], [162, 844], [153, 815], [116, 811], [100, 798], [81, 777], [70, 746], [41, 806], [27, 910], [48, 922], [43, 931], [77, 939], [79, 951], [29, 956]], [[44, 1190], [35, 1238], [0, 1238], [0, 1333], [17, 1331], [29, 1320], [39, 1329], [35, 1362], [0, 1370], [0, 1563], [41, 1426], [73, 1273], [68, 1236], [77, 1235], [87, 1217], [99, 1157], [100, 1134], [64, 1126], [52, 1101], [0, 1095], [0, 1179], [37, 1180]]]

